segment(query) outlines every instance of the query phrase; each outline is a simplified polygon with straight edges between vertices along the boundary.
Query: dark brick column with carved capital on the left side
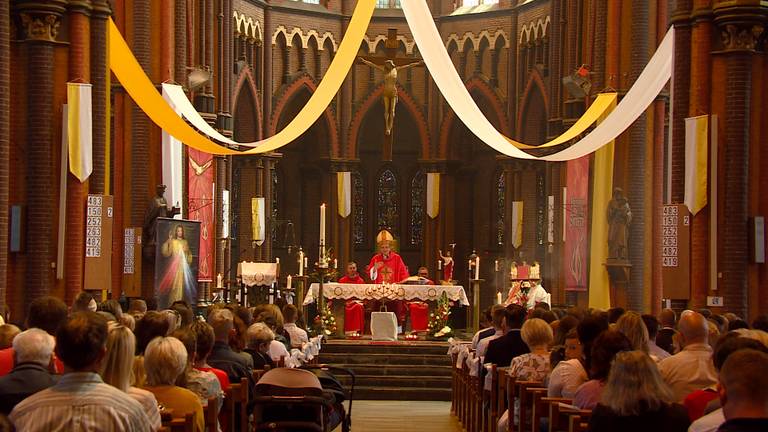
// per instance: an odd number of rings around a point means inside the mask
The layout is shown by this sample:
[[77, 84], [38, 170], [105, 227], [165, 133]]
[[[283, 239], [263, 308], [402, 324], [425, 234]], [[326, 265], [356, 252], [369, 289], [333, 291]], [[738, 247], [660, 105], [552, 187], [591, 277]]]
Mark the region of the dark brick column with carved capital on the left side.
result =
[[[53, 215], [56, 213], [57, 184], [54, 167], [54, 127], [60, 115], [53, 109], [53, 53], [66, 1], [45, 4], [18, 2], [27, 51], [27, 142], [20, 143], [27, 156], [27, 227], [25, 301], [47, 295], [53, 286], [51, 262], [55, 257], [56, 238]], [[7, 62], [6, 62], [7, 63]], [[7, 135], [6, 135], [7, 137]], [[7, 183], [6, 183], [7, 184]], [[63, 239], [59, 239], [63, 241]]]

